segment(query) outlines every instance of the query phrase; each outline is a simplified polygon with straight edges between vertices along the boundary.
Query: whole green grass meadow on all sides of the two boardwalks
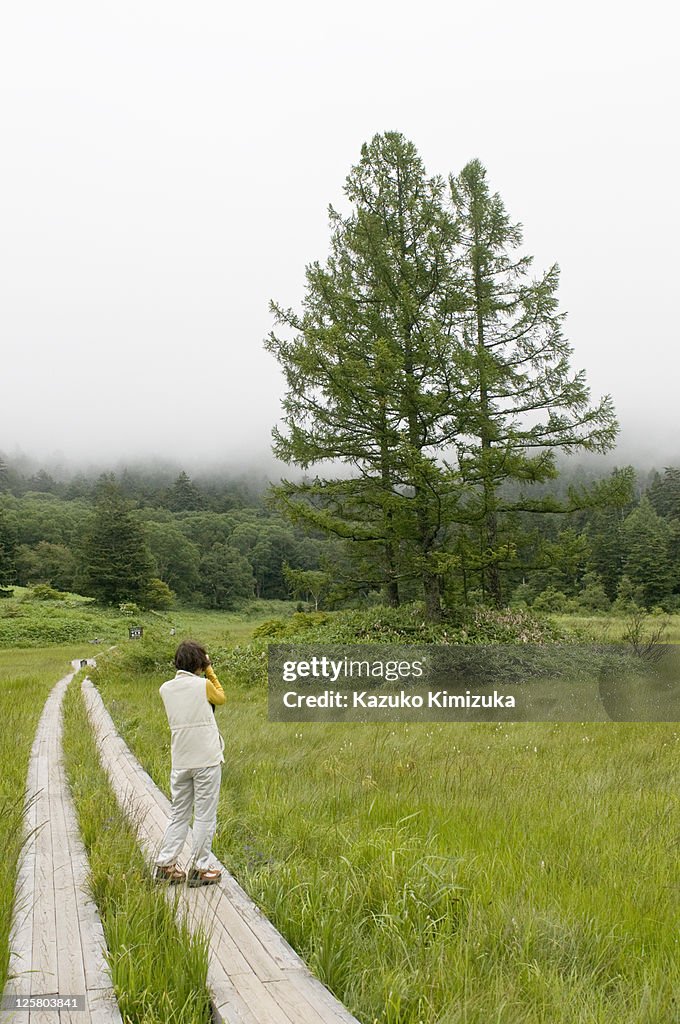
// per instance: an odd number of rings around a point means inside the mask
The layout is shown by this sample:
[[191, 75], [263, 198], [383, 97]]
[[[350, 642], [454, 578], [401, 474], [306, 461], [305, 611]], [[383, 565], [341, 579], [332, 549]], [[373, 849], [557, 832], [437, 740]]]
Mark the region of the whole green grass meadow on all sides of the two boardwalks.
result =
[[[264, 614], [144, 625], [166, 644], [173, 628], [219, 652]], [[98, 657], [118, 727], [168, 792], [158, 687], [170, 672], [153, 642], [146, 658], [125, 623], [110, 626], [115, 651], [0, 650], [3, 982], [29, 752], [72, 657]], [[611, 639], [623, 629], [579, 626]], [[216, 668], [227, 705], [215, 851], [363, 1024], [677, 1024], [678, 724], [270, 723], [263, 688]], [[76, 686], [65, 729], [124, 1018], [207, 1024], [205, 946], [148, 884]]]

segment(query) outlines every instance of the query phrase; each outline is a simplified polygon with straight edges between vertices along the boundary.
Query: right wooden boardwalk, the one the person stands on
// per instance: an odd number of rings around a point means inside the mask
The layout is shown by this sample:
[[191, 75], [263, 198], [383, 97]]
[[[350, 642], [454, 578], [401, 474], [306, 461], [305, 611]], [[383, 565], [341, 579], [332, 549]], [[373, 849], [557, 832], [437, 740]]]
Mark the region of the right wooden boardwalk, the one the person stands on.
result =
[[[98, 690], [83, 693], [101, 762], [121, 805], [135, 822], [153, 864], [161, 846], [169, 801], [119, 736]], [[190, 834], [180, 863], [190, 855]], [[219, 864], [215, 860], [216, 864]], [[300, 959], [223, 865], [219, 885], [172, 887], [192, 928], [210, 938], [208, 985], [216, 1021], [225, 1024], [358, 1024]]]

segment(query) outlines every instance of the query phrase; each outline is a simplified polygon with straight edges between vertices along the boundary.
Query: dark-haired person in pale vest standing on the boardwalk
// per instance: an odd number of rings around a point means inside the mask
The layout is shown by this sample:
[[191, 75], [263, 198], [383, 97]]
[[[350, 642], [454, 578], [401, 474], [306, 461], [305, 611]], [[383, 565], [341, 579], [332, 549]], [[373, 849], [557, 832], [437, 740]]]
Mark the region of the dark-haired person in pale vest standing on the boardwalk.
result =
[[186, 881], [186, 872], [177, 867], [177, 857], [186, 840], [193, 811], [194, 849], [188, 885], [209, 886], [221, 878], [218, 868], [211, 864], [224, 761], [224, 743], [214, 712], [215, 705], [223, 705], [226, 697], [206, 648], [195, 640], [180, 643], [175, 668], [175, 678], [163, 683], [160, 689], [172, 734], [172, 810], [156, 861], [155, 878], [159, 882]]

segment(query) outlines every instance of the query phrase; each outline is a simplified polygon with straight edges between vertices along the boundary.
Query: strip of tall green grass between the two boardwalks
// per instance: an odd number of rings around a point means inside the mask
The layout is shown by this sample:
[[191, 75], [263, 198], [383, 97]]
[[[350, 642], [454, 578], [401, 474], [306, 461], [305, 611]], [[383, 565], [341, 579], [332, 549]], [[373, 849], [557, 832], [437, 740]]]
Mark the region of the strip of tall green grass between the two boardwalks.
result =
[[[125, 1024], [209, 1024], [208, 943], [177, 925], [101, 768], [80, 687], [65, 698], [65, 760]], [[175, 892], [176, 895], [176, 892]]]

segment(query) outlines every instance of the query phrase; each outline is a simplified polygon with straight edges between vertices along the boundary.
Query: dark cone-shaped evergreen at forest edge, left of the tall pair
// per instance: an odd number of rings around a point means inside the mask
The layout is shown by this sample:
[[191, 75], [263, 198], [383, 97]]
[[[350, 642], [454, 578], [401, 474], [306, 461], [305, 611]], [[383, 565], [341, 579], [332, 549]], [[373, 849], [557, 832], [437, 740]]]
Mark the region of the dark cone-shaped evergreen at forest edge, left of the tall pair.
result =
[[82, 557], [85, 593], [103, 604], [146, 603], [152, 557], [141, 525], [111, 476], [97, 487], [94, 521], [84, 539]]

